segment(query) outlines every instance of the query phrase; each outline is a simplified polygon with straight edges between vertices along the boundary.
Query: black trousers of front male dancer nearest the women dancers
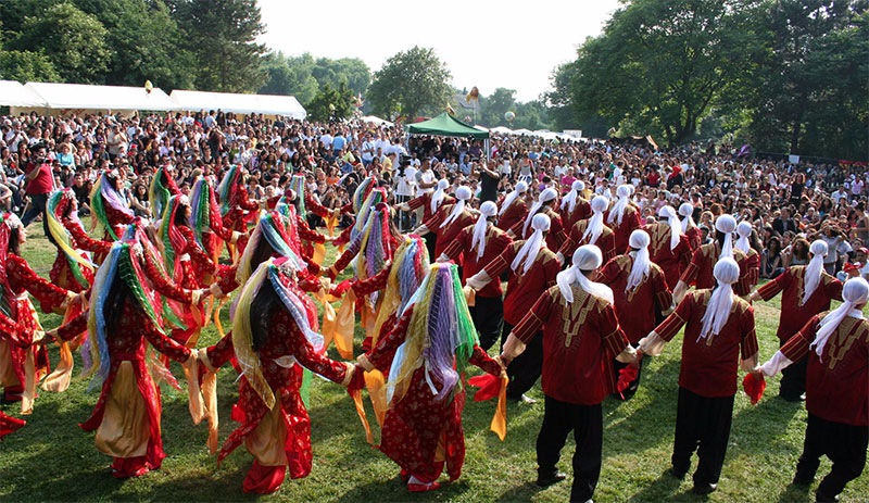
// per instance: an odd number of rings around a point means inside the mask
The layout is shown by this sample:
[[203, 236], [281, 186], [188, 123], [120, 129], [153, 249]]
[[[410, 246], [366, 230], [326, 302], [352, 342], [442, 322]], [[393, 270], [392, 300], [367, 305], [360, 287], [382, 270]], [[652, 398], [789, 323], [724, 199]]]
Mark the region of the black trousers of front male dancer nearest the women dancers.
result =
[[543, 424], [537, 437], [538, 476], [555, 475], [567, 435], [572, 431], [577, 449], [574, 452], [574, 486], [570, 501], [584, 502], [594, 495], [601, 477], [604, 420], [601, 404], [577, 405], [546, 397]]

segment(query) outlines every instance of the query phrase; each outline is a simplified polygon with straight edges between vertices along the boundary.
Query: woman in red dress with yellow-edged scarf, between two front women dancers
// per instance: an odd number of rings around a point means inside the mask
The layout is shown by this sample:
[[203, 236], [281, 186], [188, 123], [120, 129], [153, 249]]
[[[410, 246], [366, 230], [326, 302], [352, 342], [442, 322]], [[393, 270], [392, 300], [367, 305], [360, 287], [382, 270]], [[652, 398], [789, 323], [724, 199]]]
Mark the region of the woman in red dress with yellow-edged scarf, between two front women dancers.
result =
[[[277, 491], [287, 469], [291, 478], [311, 473], [311, 420], [302, 401], [303, 367], [348, 386], [362, 372], [325, 355], [313, 302], [295, 285], [290, 261], [268, 261], [247, 281], [235, 305], [232, 344], [199, 351], [209, 370], [232, 354], [243, 370], [234, 418], [241, 423], [226, 439], [218, 463], [244, 443], [253, 466], [244, 492]], [[356, 388], [361, 388], [358, 382]]]

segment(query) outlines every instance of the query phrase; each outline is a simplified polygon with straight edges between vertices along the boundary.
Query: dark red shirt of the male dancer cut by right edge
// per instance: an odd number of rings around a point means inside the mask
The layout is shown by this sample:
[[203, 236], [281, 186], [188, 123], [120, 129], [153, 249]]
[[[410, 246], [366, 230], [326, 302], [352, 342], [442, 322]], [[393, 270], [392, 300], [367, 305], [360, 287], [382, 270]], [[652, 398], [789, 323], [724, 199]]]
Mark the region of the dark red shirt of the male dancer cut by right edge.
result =
[[821, 419], [869, 426], [869, 322], [845, 317], [818, 357], [809, 344], [820, 320], [813, 316], [781, 349], [794, 362], [808, 355], [806, 410]]

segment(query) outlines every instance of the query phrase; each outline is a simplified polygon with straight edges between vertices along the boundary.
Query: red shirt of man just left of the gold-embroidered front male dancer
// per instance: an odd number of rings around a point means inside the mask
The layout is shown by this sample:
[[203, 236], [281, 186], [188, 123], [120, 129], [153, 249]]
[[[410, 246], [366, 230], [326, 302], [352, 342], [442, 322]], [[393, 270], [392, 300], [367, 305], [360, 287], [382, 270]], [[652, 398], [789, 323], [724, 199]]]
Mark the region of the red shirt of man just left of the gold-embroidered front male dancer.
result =
[[511, 325], [517, 325], [531, 311], [540, 295], [555, 286], [555, 276], [562, 269], [555, 253], [544, 247], [540, 249], [527, 273], [522, 273], [522, 266], [518, 273], [513, 271], [511, 264], [524, 244], [525, 241], [514, 241], [483, 267], [492, 282], [501, 282], [501, 274], [509, 271], [507, 294], [504, 297], [504, 320]]

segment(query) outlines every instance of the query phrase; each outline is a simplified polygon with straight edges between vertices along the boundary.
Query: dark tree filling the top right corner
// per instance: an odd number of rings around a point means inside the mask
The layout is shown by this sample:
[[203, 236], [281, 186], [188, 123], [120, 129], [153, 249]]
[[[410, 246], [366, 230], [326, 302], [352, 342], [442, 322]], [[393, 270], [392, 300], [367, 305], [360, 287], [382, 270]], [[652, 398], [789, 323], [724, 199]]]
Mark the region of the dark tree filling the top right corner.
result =
[[778, 0], [764, 5], [765, 58], [736, 92], [745, 134], [772, 152], [867, 158], [866, 1]]

